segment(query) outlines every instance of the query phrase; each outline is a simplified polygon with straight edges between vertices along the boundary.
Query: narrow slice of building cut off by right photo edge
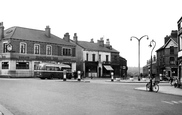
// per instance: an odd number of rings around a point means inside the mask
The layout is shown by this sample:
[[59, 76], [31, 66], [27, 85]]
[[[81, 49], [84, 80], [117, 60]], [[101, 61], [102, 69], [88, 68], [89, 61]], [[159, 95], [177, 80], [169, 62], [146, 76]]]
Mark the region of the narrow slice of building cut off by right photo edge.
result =
[[178, 79], [181, 81], [182, 76], [182, 17], [177, 22], [178, 25]]

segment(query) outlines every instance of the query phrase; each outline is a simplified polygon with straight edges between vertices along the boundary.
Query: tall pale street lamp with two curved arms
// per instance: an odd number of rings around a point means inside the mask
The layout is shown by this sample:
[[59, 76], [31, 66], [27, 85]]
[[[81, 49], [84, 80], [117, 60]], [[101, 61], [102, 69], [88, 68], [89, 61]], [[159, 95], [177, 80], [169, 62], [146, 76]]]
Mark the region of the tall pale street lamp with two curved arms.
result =
[[130, 38], [130, 41], [132, 41], [132, 38], [136, 38], [137, 40], [138, 40], [138, 80], [140, 80], [139, 79], [139, 77], [140, 77], [140, 41], [142, 40], [142, 38], [144, 38], [144, 37], [147, 37], [147, 40], [149, 39], [149, 37], [148, 37], [148, 35], [144, 35], [144, 36], [142, 36], [140, 39], [138, 39], [137, 37], [135, 37], [135, 36], [132, 36], [131, 38]]

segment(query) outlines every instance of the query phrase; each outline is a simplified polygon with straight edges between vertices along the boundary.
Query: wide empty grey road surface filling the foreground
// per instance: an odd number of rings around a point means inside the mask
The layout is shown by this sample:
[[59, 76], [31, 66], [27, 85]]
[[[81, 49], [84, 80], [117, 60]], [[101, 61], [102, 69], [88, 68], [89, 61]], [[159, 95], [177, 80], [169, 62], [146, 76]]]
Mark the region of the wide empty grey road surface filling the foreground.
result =
[[145, 84], [1, 78], [0, 104], [14, 115], [182, 114], [181, 96], [134, 90], [141, 86]]

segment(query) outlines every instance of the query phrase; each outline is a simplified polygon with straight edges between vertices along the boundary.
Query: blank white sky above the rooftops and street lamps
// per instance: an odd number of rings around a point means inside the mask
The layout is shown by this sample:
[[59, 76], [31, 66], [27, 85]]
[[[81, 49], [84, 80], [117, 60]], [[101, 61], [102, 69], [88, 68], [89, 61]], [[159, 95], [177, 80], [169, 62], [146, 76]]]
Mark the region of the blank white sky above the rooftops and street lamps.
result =
[[129, 67], [138, 67], [138, 41], [141, 38], [140, 67], [151, 57], [150, 41], [155, 50], [164, 45], [164, 37], [177, 30], [182, 16], [181, 0], [2, 0], [0, 22], [5, 29], [12, 26], [45, 30], [62, 38], [97, 42], [110, 40], [112, 47], [127, 60]]

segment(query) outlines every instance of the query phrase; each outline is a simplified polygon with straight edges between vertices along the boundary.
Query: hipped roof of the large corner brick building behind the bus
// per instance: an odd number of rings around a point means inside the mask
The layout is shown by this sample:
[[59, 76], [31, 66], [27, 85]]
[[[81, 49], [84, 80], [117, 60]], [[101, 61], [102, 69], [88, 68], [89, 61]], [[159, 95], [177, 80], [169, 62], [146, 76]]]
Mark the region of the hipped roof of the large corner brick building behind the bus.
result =
[[7, 39], [7, 38], [75, 46], [72, 43], [67, 42], [53, 34], [51, 34], [51, 37], [49, 38], [45, 35], [45, 31], [43, 30], [36, 30], [36, 29], [30, 29], [30, 28], [24, 28], [24, 27], [8, 28], [4, 32], [4, 39]]

